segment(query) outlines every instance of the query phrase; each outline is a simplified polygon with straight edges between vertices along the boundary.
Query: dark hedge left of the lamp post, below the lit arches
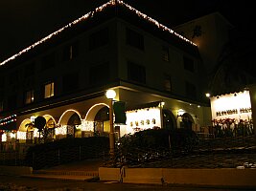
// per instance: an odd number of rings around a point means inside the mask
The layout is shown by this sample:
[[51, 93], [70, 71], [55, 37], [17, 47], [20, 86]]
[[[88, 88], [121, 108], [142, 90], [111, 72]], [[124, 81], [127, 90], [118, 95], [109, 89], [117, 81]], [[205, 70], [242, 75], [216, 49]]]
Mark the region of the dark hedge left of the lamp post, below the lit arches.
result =
[[109, 139], [105, 137], [62, 138], [30, 147], [25, 163], [42, 169], [83, 159], [102, 159], [108, 151]]

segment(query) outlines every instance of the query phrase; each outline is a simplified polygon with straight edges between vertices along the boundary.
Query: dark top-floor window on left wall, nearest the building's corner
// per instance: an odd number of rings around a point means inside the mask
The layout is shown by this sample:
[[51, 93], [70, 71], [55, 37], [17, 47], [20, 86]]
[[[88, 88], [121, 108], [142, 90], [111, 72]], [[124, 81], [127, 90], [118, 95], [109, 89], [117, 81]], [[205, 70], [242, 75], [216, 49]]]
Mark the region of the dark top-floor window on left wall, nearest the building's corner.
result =
[[108, 29], [105, 28], [99, 32], [94, 32], [89, 36], [89, 50], [106, 45], [109, 41]]

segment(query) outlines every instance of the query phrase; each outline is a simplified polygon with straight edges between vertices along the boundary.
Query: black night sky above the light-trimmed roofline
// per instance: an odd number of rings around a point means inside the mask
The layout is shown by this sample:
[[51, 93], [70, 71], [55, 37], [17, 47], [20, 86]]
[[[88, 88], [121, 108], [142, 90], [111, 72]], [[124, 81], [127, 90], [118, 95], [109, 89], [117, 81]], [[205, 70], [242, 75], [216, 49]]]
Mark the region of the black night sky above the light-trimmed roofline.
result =
[[[172, 28], [204, 14], [220, 11], [246, 31], [255, 23], [253, 1], [244, 0], [124, 0]], [[0, 0], [0, 61], [92, 11], [107, 0]]]

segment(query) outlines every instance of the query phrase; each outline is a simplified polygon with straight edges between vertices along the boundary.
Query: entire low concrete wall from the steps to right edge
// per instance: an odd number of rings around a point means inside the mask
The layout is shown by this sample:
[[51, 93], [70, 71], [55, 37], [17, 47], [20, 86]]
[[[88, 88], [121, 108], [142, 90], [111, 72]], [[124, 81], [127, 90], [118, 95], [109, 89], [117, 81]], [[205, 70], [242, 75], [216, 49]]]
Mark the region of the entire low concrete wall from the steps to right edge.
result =
[[[118, 172], [120, 173], [118, 175]], [[100, 168], [100, 180], [256, 188], [256, 169]]]

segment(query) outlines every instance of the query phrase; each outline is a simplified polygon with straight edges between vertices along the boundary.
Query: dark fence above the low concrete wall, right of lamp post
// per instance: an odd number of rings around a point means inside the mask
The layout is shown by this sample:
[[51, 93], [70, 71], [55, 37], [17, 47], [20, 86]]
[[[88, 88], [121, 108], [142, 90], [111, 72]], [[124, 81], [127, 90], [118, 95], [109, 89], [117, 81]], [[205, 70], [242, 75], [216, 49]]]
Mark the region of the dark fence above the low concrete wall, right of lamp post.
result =
[[[114, 162], [114, 163], [113, 163]], [[114, 164], [114, 165], [113, 165]], [[198, 138], [193, 149], [131, 148], [116, 150], [115, 159], [105, 157], [105, 167], [166, 168], [256, 168], [256, 142], [253, 136], [236, 138]]]

